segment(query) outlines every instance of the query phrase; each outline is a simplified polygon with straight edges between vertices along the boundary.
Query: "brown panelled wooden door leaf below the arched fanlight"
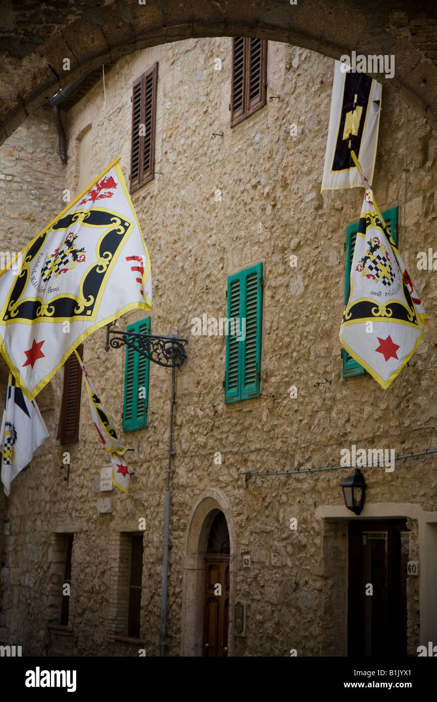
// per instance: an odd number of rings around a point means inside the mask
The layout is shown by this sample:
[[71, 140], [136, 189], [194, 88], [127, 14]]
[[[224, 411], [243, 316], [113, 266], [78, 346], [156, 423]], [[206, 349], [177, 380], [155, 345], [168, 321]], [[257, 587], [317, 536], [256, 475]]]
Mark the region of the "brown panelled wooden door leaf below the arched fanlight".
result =
[[[229, 556], [206, 556], [203, 656], [227, 656], [229, 624]], [[220, 594], [221, 592], [221, 594]]]

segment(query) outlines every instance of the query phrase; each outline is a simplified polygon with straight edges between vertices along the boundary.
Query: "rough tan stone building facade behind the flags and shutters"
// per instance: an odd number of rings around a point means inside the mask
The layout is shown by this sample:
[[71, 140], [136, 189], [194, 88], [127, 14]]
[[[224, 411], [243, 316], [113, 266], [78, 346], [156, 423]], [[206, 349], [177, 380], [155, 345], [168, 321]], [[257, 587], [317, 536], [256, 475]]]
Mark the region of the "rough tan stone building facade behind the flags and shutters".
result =
[[[433, 454], [397, 461], [394, 472], [363, 469], [368, 488], [359, 517], [339, 487], [347, 468], [242, 475], [338, 465], [340, 450], [352, 444], [396, 455], [433, 448], [437, 354], [425, 331], [389, 390], [368, 375], [342, 376], [344, 244], [363, 191], [320, 193], [334, 62], [269, 41], [267, 102], [231, 128], [231, 46], [226, 37], [189, 39], [107, 67], [105, 93], [99, 81], [63, 115], [67, 166], [56, 154], [50, 113], [28, 118], [1, 147], [1, 249], [23, 246], [62, 208], [65, 189], [74, 197], [118, 155], [129, 183], [132, 86], [158, 62], [155, 175], [132, 199], [152, 259], [151, 333], [189, 338], [177, 373], [167, 654], [205, 653], [210, 529], [218, 524], [223, 536], [224, 515], [225, 653], [346, 656], [351, 560], [358, 557], [350, 524], [361, 521], [363, 539], [372, 538], [372, 523], [383, 542], [398, 529], [401, 561], [390, 577], [405, 611], [405, 653], [414, 656], [419, 644], [437, 641]], [[399, 246], [431, 322], [435, 272], [417, 270], [416, 261], [437, 245], [436, 149], [436, 125], [384, 86], [373, 190], [383, 211], [398, 208]], [[27, 176], [38, 181], [35, 192]], [[228, 278], [260, 263], [260, 396], [225, 403], [226, 340], [194, 335], [193, 320], [226, 317]], [[144, 316], [130, 312], [115, 328]], [[107, 461], [82, 392], [79, 440], [58, 442], [71, 456], [69, 481], [44, 445], [14, 480], [11, 496], [1, 497], [0, 642], [22, 645], [23, 655], [159, 654], [171, 372], [150, 365], [147, 428], [121, 432], [124, 352], [105, 352], [105, 336], [102, 329], [86, 340], [83, 359], [121, 442], [132, 449], [135, 475], [128, 495], [100, 491]], [[62, 372], [36, 398], [53, 437], [61, 394]], [[107, 496], [112, 512], [99, 512], [98, 500]], [[139, 635], [128, 636], [133, 536], [142, 536], [141, 616]], [[62, 624], [68, 548], [71, 595]], [[419, 576], [406, 577], [407, 561], [419, 562]]]

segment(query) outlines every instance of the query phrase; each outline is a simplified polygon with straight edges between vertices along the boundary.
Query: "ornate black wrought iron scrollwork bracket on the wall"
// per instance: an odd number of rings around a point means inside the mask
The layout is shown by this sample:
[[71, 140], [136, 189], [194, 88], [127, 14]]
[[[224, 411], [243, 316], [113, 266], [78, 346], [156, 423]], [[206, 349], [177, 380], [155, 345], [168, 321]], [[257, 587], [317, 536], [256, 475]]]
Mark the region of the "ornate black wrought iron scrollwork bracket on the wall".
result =
[[[113, 331], [109, 329], [110, 326], [112, 325], [108, 324], [106, 328], [105, 351], [109, 351], [110, 347], [119, 349], [121, 346], [127, 346], [159, 366], [178, 368], [179, 370], [187, 358], [185, 345], [188, 343], [188, 339], [177, 336], [154, 336], [154, 334]], [[109, 338], [109, 334], [116, 336]]]

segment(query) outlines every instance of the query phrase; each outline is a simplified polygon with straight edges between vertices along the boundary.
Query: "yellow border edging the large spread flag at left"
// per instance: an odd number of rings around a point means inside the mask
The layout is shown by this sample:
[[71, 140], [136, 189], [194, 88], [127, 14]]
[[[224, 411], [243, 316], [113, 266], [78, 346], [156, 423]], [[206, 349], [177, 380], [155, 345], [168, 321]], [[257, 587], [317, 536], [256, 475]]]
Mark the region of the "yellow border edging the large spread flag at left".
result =
[[[115, 168], [116, 168], [116, 175], [119, 177], [119, 180], [120, 180], [120, 183], [121, 183], [121, 187], [123, 187], [123, 192], [124, 192], [124, 194], [125, 194], [125, 196], [126, 196], [126, 199], [127, 199], [127, 201], [128, 201], [128, 204], [129, 204], [129, 206], [130, 206], [130, 208], [131, 208], [131, 210], [132, 210], [132, 212], [133, 212], [133, 215], [134, 215], [134, 217], [135, 217], [135, 222], [137, 223], [137, 227], [138, 227], [138, 230], [139, 230], [139, 232], [140, 232], [140, 237], [141, 237], [141, 239], [142, 239], [142, 244], [143, 244], [144, 249], [145, 249], [145, 251], [146, 251], [146, 253], [147, 253], [147, 266], [146, 266], [146, 269], [144, 270], [144, 274], [143, 274], [143, 276], [142, 276], [142, 284], [143, 284], [143, 289], [144, 289], [144, 284], [147, 283], [147, 280], [149, 279], [149, 275], [150, 275], [150, 272], [151, 272], [150, 256], [149, 256], [149, 251], [147, 251], [147, 246], [146, 246], [146, 244], [144, 243], [144, 237], [142, 236], [142, 231], [141, 231], [140, 223], [138, 222], [137, 213], [135, 212], [135, 208], [134, 208], [134, 206], [133, 206], [132, 199], [130, 198], [130, 194], [129, 194], [128, 189], [127, 189], [127, 187], [126, 187], [126, 183], [125, 183], [124, 176], [123, 176], [123, 171], [121, 171], [121, 166], [120, 166], [120, 164], [119, 164], [120, 158], [121, 158], [121, 157], [118, 156], [118, 157], [116, 157], [116, 159], [114, 159], [114, 161], [111, 161], [111, 163], [109, 164], [109, 166], [107, 166], [107, 168], [105, 168], [105, 170], [102, 171], [102, 173], [100, 173], [100, 174], [97, 176], [97, 178], [95, 178], [95, 179], [93, 180], [93, 182], [90, 183], [90, 185], [87, 185], [87, 187], [84, 188], [84, 189], [79, 193], [79, 195], [77, 195], [77, 196], [74, 198], [74, 200], [73, 200], [71, 203], [67, 204], [67, 206], [58, 214], [58, 216], [56, 216], [55, 218], [53, 218], [53, 220], [51, 220], [51, 223], [50, 223], [47, 227], [44, 227], [43, 230], [41, 230], [41, 232], [39, 232], [39, 234], [36, 234], [36, 237], [34, 237], [34, 238], [32, 239], [32, 241], [29, 241], [29, 244], [27, 244], [27, 246], [25, 246], [25, 248], [22, 249], [22, 251], [20, 251], [20, 252], [18, 253], [18, 256], [16, 256], [16, 257], [14, 258], [14, 260], [11, 261], [11, 266], [8, 267], [8, 268], [4, 268], [4, 270], [1, 270], [1, 271], [0, 271], [0, 276], [3, 275], [4, 273], [6, 273], [7, 270], [10, 270], [10, 268], [13, 267], [13, 264], [15, 263], [15, 261], [18, 260], [18, 258], [19, 258], [20, 256], [22, 256], [22, 255], [25, 253], [25, 251], [27, 251], [27, 249], [29, 249], [29, 246], [32, 246], [32, 244], [34, 243], [34, 241], [35, 241], [36, 239], [38, 239], [38, 237], [40, 237], [41, 234], [43, 234], [43, 232], [46, 232], [48, 229], [50, 229], [50, 228], [53, 226], [53, 224], [54, 224], [55, 222], [57, 222], [58, 219], [60, 219], [60, 218], [62, 217], [62, 215], [64, 215], [67, 211], [69, 211], [72, 207], [74, 207], [74, 205], [76, 204], [76, 202], [78, 202], [79, 199], [81, 199], [81, 197], [83, 197], [83, 195], [86, 194], [86, 193], [88, 192], [88, 190], [90, 190], [90, 188], [93, 187], [93, 185], [95, 185], [96, 183], [98, 183], [98, 181], [100, 180], [100, 178], [102, 178], [102, 176], [105, 176], [105, 173], [107, 173], [108, 171], [110, 171], [111, 168], [114, 168], [114, 166], [115, 166]], [[58, 365], [55, 366], [55, 368], [54, 368], [52, 371], [50, 371], [50, 373], [48, 373], [47, 376], [45, 376], [44, 378], [42, 378], [42, 380], [40, 380], [40, 382], [38, 383], [38, 385], [36, 385], [36, 387], [35, 387], [32, 391], [30, 391], [30, 390], [28, 390], [28, 389], [26, 388], [25, 384], [24, 384], [23, 381], [22, 381], [22, 377], [21, 377], [20, 371], [18, 370], [18, 368], [15, 367], [15, 365], [13, 364], [13, 361], [12, 361], [11, 357], [8, 355], [8, 352], [6, 352], [6, 346], [5, 346], [5, 343], [4, 343], [4, 339], [3, 339], [3, 338], [0, 338], [0, 352], [1, 352], [1, 355], [4, 357], [4, 359], [5, 359], [5, 361], [6, 361], [6, 364], [8, 365], [8, 368], [9, 368], [9, 370], [11, 371], [11, 373], [13, 373], [13, 376], [15, 376], [15, 383], [17, 383], [17, 385], [21, 388], [21, 390], [22, 390], [22, 392], [24, 393], [25, 397], [27, 397], [27, 399], [29, 399], [29, 400], [32, 401], [32, 399], [34, 399], [34, 398], [36, 397], [36, 395], [38, 395], [38, 393], [41, 392], [41, 390], [42, 390], [43, 388], [45, 388], [46, 385], [47, 385], [48, 383], [50, 383], [50, 381], [51, 381], [51, 379], [53, 378], [53, 376], [55, 376], [55, 374], [58, 373], [58, 370], [60, 369], [60, 367], [63, 366], [63, 365], [65, 364], [65, 362], [67, 361], [67, 358], [68, 358], [70, 355], [72, 355], [72, 352], [76, 349], [76, 347], [78, 347], [79, 345], [81, 345], [81, 343], [83, 342], [83, 340], [85, 340], [85, 339], [87, 338], [87, 336], [90, 336], [90, 334], [92, 334], [94, 331], [97, 331], [98, 329], [101, 329], [102, 326], [106, 326], [107, 324], [109, 324], [109, 322], [114, 322], [115, 319], [118, 319], [119, 317], [121, 317], [122, 314], [126, 314], [127, 312], [130, 312], [130, 310], [140, 309], [140, 310], [145, 310], [146, 312], [149, 312], [150, 310], [152, 310], [152, 300], [149, 300], [149, 298], [147, 298], [147, 297], [144, 295], [144, 292], [143, 292], [143, 297], [144, 297], [144, 300], [145, 300], [144, 303], [130, 303], [129, 305], [125, 305], [124, 307], [121, 307], [119, 310], [117, 310], [116, 312], [114, 312], [114, 314], [111, 314], [110, 317], [107, 317], [106, 319], [102, 319], [100, 322], [96, 322], [96, 324], [93, 324], [93, 326], [90, 326], [88, 329], [86, 329], [86, 331], [83, 331], [83, 333], [81, 333], [81, 335], [78, 336], [78, 337], [74, 340], [74, 342], [72, 343], [72, 345], [69, 346], [69, 348], [67, 349], [67, 351], [65, 352], [65, 354], [62, 356], [62, 359], [60, 360], [60, 362], [58, 363]], [[117, 487], [120, 487], [120, 489], [123, 489], [123, 488], [121, 488], [121, 486], [119, 486], [119, 485], [117, 485]]]

